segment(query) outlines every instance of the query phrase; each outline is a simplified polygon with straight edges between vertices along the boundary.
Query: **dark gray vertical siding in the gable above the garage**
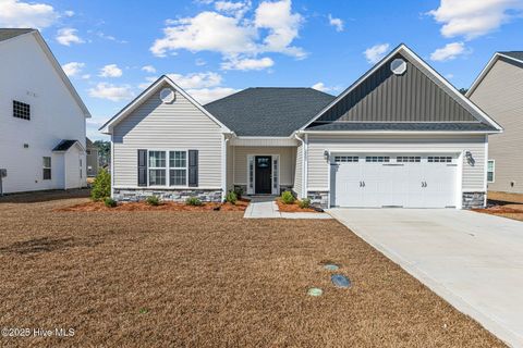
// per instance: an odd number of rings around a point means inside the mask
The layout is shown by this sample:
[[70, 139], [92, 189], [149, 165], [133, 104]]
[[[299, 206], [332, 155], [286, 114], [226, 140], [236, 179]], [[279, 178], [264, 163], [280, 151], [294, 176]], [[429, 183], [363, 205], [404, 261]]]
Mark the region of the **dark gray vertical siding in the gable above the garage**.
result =
[[[406, 61], [406, 72], [394, 75], [390, 62]], [[317, 123], [350, 122], [477, 122], [470, 108], [451, 96], [448, 88], [397, 54], [338, 101]]]

